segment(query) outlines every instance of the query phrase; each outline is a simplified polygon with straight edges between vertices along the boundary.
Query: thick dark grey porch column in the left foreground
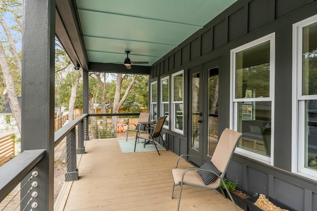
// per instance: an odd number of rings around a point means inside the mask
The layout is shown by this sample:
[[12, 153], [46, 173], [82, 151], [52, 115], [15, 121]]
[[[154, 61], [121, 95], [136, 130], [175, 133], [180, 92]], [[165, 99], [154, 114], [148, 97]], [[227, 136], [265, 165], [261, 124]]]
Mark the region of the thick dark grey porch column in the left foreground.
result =
[[[21, 152], [46, 150], [35, 167], [38, 196], [31, 198], [29, 188], [21, 190], [21, 210], [53, 211], [54, 186], [54, 77], [55, 77], [55, 0], [23, 0], [22, 26], [22, 106]], [[27, 178], [21, 182], [26, 183]], [[29, 185], [30, 186], [30, 185]]]

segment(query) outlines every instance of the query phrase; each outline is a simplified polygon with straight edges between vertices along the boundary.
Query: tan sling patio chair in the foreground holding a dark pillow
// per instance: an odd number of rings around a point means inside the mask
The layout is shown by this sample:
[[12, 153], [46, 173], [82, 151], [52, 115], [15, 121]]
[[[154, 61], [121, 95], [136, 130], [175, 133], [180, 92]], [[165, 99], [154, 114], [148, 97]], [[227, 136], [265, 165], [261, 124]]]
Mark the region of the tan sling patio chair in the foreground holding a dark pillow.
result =
[[[172, 174], [174, 177], [172, 199], [174, 195], [174, 187], [177, 185], [180, 185], [177, 211], [179, 210], [179, 206], [180, 206], [180, 199], [181, 199], [183, 185], [191, 185], [191, 186], [208, 188], [208, 189], [216, 189], [220, 186], [221, 182], [222, 184], [224, 184], [225, 190], [228, 193], [236, 210], [239, 211], [237, 205], [234, 203], [232, 196], [223, 181], [223, 178], [228, 168], [233, 152], [236, 148], [237, 142], [241, 138], [241, 136], [242, 136], [242, 133], [225, 128], [214, 150], [211, 161], [205, 163], [203, 166], [201, 166], [201, 168], [196, 168], [196, 167], [190, 167], [187, 169], [177, 168], [179, 160], [184, 156], [200, 158], [200, 157], [191, 156], [191, 155], [179, 156], [176, 162], [175, 169], [172, 169]], [[223, 190], [222, 189], [220, 190], [222, 194], [224, 195]]]

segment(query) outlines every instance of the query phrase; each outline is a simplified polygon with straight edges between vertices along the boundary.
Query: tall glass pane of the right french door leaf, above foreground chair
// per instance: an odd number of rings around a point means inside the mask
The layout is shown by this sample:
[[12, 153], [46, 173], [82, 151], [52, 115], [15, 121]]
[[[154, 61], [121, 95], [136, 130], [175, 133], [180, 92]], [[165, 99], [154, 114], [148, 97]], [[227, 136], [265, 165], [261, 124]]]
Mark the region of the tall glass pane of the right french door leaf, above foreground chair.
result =
[[208, 155], [212, 156], [218, 142], [218, 67], [209, 70]]

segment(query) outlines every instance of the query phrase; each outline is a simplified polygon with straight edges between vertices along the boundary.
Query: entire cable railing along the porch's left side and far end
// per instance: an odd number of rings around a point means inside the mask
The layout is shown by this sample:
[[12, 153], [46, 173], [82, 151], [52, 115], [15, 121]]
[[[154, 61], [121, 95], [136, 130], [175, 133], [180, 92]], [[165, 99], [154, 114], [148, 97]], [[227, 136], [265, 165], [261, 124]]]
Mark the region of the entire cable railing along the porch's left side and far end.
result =
[[[91, 125], [92, 120], [89, 118], [95, 118], [100, 123], [101, 119], [106, 120], [106, 124], [110, 124], [111, 120], [109, 117], [119, 116], [119, 124], [123, 126], [123, 121], [128, 121], [129, 118], [138, 118], [139, 113], [129, 114], [83, 114], [75, 120], [71, 121], [67, 125], [64, 125], [54, 133], [54, 165], [58, 164], [65, 172], [64, 181], [74, 181], [78, 179], [78, 160], [81, 159], [79, 154], [85, 153], [84, 140], [89, 140], [89, 134], [94, 132]], [[99, 121], [99, 122], [98, 122]], [[100, 128], [105, 127], [99, 124], [98, 131]], [[113, 127], [113, 125], [111, 125]], [[116, 132], [116, 126], [114, 129], [110, 129]], [[99, 137], [98, 137], [99, 138]], [[23, 137], [22, 137], [23, 139]], [[34, 168], [41, 168], [38, 164], [45, 157], [46, 150], [26, 150], [20, 155], [16, 156], [6, 164], [0, 167], [0, 203], [5, 199], [13, 189], [17, 189], [13, 194], [12, 198], [19, 198], [18, 203], [11, 206], [12, 199], [5, 200], [0, 205], [0, 210], [36, 210], [38, 206], [43, 206], [45, 201], [40, 200], [43, 194], [51, 195], [51, 192], [45, 192], [37, 186], [51, 186], [48, 184], [41, 184], [37, 181], [38, 171]], [[46, 171], [44, 171], [46, 173]], [[43, 172], [42, 172], [43, 174]], [[48, 174], [48, 172], [47, 172]], [[29, 176], [31, 175], [31, 176]], [[48, 176], [48, 175], [40, 175]], [[25, 182], [26, 181], [26, 182]], [[22, 184], [22, 182], [25, 182]], [[64, 184], [64, 182], [63, 182]], [[20, 187], [19, 187], [20, 186]], [[54, 189], [60, 190], [62, 187], [58, 186]], [[22, 191], [24, 189], [24, 191]], [[25, 194], [22, 196], [22, 194]], [[58, 193], [53, 193], [52, 196], [56, 198]], [[11, 197], [11, 196], [10, 196]], [[9, 206], [9, 209], [7, 209]], [[38, 208], [39, 209], [39, 208]]]

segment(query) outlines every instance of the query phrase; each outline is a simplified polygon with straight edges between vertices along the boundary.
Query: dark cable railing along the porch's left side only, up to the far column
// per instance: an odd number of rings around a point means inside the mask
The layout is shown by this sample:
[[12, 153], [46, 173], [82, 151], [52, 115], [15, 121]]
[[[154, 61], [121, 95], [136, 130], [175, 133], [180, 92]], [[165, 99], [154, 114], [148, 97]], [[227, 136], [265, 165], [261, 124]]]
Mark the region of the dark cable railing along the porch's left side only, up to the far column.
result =
[[[64, 163], [66, 165], [65, 181], [78, 179], [76, 154], [85, 153], [83, 151], [85, 133], [84, 121], [87, 119], [87, 116], [87, 114], [81, 115], [54, 133], [55, 159], [59, 160], [58, 162], [61, 164]], [[76, 141], [78, 143], [76, 143]], [[81, 148], [77, 146], [80, 146]], [[38, 171], [34, 171], [33, 169], [37, 167], [37, 164], [44, 158], [45, 154], [46, 150], [44, 149], [26, 150], [0, 167], [0, 202], [2, 202], [13, 189], [17, 189], [14, 194], [11, 194], [12, 196], [10, 196], [9, 200], [6, 200], [5, 203], [1, 203], [1, 210], [36, 210], [39, 203], [41, 203], [36, 199], [39, 194], [43, 195], [43, 193], [40, 192], [41, 188], [38, 188], [37, 191], [33, 191], [33, 189], [38, 185], [44, 186], [46, 184], [39, 184], [38, 181], [36, 181]], [[31, 176], [26, 179], [30, 173]], [[26, 182], [22, 184], [22, 181]], [[18, 187], [19, 184], [20, 188]], [[22, 196], [21, 193], [26, 194]], [[20, 198], [18, 203], [10, 205], [15, 198]]]

